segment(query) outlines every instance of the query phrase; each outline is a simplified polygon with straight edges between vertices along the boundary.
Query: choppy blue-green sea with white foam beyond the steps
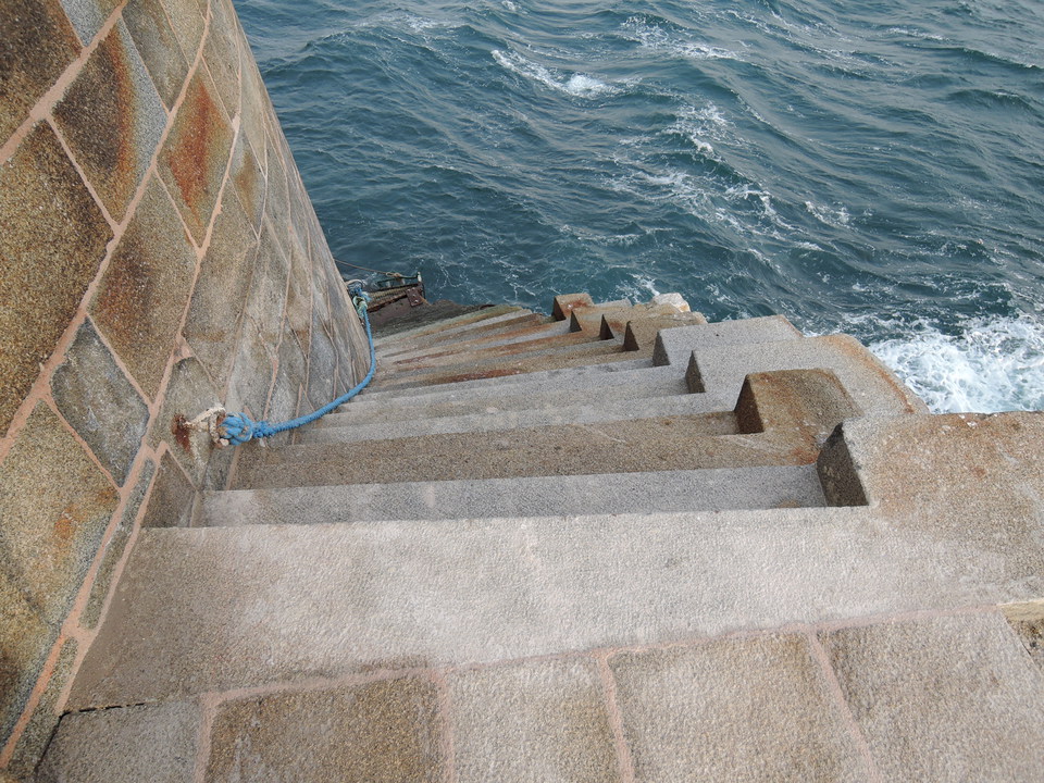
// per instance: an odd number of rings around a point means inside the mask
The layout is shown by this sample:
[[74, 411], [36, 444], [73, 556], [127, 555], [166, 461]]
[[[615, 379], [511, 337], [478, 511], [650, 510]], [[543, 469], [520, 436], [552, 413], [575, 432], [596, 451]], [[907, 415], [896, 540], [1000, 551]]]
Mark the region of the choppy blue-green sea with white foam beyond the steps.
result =
[[1044, 0], [236, 5], [341, 261], [781, 312], [1044, 408]]

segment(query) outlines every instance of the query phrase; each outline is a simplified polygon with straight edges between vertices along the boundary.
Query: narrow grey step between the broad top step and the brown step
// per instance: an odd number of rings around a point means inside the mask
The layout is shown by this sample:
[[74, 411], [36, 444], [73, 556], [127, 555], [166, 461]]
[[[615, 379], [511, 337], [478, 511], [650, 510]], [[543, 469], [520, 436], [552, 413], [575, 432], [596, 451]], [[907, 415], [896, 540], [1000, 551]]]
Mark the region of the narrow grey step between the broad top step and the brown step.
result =
[[195, 525], [315, 524], [824, 506], [816, 465], [208, 493]]

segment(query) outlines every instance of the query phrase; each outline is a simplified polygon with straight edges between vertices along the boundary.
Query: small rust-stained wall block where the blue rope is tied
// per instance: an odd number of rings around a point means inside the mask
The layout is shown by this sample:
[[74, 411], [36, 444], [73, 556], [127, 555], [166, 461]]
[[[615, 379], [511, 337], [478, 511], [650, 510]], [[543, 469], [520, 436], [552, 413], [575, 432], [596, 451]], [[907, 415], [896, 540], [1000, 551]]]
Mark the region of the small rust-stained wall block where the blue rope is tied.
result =
[[195, 357], [188, 357], [171, 369], [163, 408], [152, 421], [150, 444], [158, 448], [165, 440], [167, 451], [197, 485], [202, 481], [214, 446], [208, 433], [188, 430], [184, 423], [220, 402], [203, 365]]

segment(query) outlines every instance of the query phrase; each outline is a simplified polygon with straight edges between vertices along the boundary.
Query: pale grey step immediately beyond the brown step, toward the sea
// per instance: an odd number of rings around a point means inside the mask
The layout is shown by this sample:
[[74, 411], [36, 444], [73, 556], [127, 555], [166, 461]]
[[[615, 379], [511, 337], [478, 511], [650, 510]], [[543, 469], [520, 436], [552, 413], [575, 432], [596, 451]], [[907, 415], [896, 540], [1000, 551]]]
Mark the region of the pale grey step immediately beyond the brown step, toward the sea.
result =
[[650, 417], [692, 415], [730, 410], [732, 406], [719, 405], [709, 395], [688, 394], [684, 385], [674, 381], [662, 388], [644, 385], [634, 389], [634, 396], [621, 395], [610, 386], [605, 395], [544, 395], [539, 401], [533, 397], [492, 398], [485, 407], [474, 402], [467, 407], [420, 409], [403, 414], [395, 408], [376, 418], [373, 411], [363, 413], [332, 413], [315, 424], [298, 431], [299, 444], [349, 443], [382, 440], [415, 435], [444, 433], [493, 433], [518, 427], [548, 426], [556, 424], [596, 424], [626, 419]]

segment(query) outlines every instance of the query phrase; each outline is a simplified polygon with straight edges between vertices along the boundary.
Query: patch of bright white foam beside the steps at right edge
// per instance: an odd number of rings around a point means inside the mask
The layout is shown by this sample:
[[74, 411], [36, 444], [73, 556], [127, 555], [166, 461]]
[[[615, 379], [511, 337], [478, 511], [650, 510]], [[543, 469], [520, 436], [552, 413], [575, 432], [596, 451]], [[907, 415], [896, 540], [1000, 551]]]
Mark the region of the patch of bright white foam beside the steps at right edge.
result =
[[936, 413], [1044, 409], [1044, 323], [975, 320], [957, 335], [927, 324], [870, 345]]

